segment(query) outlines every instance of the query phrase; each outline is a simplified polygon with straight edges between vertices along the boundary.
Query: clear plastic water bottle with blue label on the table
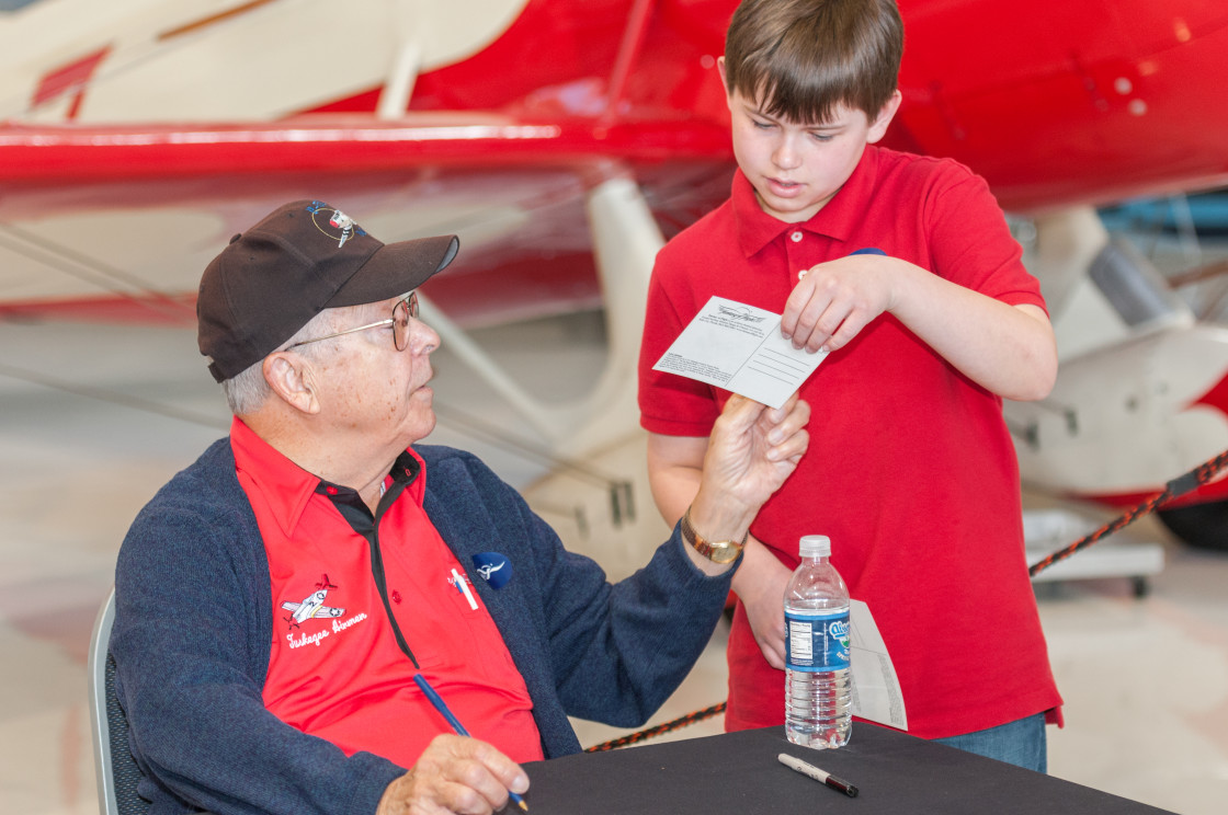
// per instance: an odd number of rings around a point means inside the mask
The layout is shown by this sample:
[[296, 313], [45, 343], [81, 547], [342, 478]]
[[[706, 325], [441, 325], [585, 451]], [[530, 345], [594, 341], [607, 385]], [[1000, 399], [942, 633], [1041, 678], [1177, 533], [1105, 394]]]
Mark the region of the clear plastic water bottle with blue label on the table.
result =
[[828, 558], [831, 540], [807, 535], [785, 589], [785, 733], [807, 747], [842, 747], [852, 729], [849, 588]]

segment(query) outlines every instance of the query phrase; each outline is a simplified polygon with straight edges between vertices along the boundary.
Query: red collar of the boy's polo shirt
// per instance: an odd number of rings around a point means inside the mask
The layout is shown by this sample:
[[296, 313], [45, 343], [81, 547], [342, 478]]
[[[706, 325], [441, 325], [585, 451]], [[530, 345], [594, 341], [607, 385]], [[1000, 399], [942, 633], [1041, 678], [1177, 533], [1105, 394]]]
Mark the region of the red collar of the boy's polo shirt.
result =
[[865, 217], [866, 204], [874, 187], [878, 171], [878, 149], [867, 145], [844, 187], [809, 221], [788, 223], [768, 215], [759, 206], [755, 188], [742, 171], [733, 174], [733, 217], [738, 245], [748, 258], [756, 254], [786, 232], [806, 230], [836, 241], [847, 241], [853, 227]]

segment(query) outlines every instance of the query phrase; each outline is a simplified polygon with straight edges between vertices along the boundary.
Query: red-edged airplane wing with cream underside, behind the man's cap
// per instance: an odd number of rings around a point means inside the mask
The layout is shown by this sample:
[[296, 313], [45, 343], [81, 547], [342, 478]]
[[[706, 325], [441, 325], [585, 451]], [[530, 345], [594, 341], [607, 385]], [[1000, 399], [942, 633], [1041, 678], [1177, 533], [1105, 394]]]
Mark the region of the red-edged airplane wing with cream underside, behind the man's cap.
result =
[[384, 241], [459, 234], [424, 293], [463, 325], [597, 308], [586, 194], [635, 172], [672, 233], [727, 194], [727, 142], [715, 124], [598, 140], [488, 114], [2, 126], [0, 314], [194, 322], [217, 247], [296, 198], [344, 206]]

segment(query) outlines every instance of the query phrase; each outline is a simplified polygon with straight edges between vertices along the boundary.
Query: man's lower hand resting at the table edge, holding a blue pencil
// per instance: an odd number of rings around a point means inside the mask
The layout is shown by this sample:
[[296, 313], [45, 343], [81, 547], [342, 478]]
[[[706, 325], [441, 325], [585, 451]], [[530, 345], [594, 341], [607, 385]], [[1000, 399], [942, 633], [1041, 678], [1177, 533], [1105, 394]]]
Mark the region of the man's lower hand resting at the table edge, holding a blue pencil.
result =
[[388, 784], [376, 815], [490, 815], [507, 790], [523, 793], [529, 778], [519, 765], [478, 739], [436, 736], [404, 776]]

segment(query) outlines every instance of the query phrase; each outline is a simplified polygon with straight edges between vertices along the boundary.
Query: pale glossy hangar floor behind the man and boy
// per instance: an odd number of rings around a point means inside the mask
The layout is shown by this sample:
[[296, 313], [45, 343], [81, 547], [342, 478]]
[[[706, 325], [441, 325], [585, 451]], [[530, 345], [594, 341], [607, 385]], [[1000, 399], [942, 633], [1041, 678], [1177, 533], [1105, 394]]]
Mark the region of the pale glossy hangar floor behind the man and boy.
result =
[[[485, 339], [534, 387], [564, 396], [599, 365], [592, 315]], [[0, 324], [0, 810], [88, 815], [97, 805], [86, 644], [119, 541], [149, 496], [225, 432], [228, 416], [190, 330]], [[540, 465], [472, 436], [467, 414], [503, 427], [511, 419], [446, 349], [435, 361], [441, 421], [432, 441], [481, 453], [569, 545], [613, 574], [662, 538], [641, 436], [592, 462], [635, 485], [636, 519], [615, 528], [603, 489], [545, 477]], [[1146, 522], [1136, 527], [1165, 549], [1146, 599], [1124, 579], [1038, 585], [1066, 700], [1067, 724], [1049, 734], [1050, 770], [1186, 815], [1218, 814], [1228, 801], [1228, 557], [1178, 545]], [[655, 723], [725, 698], [723, 636]], [[710, 719], [664, 738], [720, 727]], [[621, 733], [577, 729], [586, 745]]]

